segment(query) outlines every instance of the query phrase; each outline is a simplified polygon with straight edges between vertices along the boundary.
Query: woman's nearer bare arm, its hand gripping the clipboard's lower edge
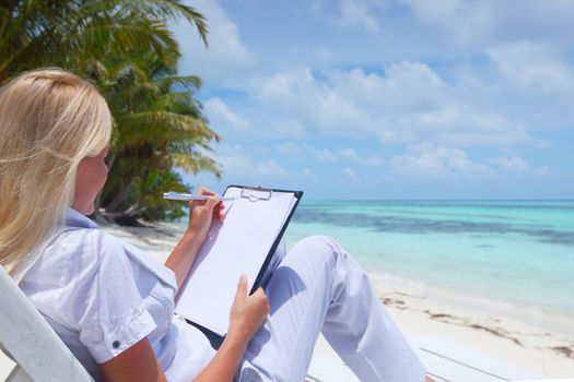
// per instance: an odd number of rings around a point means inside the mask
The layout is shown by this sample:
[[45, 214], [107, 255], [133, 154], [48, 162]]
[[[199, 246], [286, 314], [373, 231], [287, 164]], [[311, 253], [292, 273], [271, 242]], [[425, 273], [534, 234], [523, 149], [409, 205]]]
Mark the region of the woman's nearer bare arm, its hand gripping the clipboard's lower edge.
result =
[[[269, 313], [263, 289], [247, 296], [247, 278], [242, 277], [231, 311], [227, 336], [208, 366], [194, 380], [232, 381], [247, 344]], [[161, 365], [145, 337], [117, 357], [99, 366], [106, 381], [166, 381]]]

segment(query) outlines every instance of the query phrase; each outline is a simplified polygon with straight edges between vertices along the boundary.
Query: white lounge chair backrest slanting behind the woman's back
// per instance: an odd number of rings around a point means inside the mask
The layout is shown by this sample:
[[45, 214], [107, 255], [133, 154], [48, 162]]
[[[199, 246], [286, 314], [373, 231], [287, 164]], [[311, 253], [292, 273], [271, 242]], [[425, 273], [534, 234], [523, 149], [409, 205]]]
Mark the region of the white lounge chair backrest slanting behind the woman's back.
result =
[[0, 348], [16, 362], [7, 381], [93, 381], [1, 266], [0, 323]]

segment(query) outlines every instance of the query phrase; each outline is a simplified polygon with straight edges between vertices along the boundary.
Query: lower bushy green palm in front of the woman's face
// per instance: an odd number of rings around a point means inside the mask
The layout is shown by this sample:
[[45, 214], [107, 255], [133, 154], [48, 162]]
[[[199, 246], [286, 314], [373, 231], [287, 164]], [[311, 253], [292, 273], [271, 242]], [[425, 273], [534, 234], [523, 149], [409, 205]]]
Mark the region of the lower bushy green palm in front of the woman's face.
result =
[[145, 58], [113, 70], [101, 65], [92, 75], [117, 116], [102, 206], [131, 224], [140, 215], [177, 217], [181, 204], [161, 199], [166, 191], [189, 191], [173, 168], [220, 175], [216, 163], [202, 153], [220, 136], [194, 98], [200, 79], [177, 76], [174, 68]]

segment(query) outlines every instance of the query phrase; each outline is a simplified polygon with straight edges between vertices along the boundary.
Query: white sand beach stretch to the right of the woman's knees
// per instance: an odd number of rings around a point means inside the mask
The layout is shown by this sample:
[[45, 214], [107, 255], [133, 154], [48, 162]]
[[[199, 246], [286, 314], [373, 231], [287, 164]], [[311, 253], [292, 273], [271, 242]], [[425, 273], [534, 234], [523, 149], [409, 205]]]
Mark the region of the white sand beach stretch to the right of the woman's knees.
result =
[[[379, 276], [378, 276], [379, 277]], [[377, 284], [377, 275], [373, 277]], [[408, 286], [375, 286], [409, 338], [441, 338], [527, 370], [539, 378], [574, 377], [574, 336], [484, 310], [413, 294]]]

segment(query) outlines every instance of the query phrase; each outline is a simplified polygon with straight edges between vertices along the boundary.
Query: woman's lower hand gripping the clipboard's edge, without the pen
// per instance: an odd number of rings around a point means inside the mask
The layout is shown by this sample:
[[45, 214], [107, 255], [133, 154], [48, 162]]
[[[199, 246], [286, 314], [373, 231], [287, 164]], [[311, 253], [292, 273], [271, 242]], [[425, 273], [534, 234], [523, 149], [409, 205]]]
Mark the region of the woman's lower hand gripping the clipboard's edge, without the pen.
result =
[[269, 314], [269, 305], [263, 289], [259, 287], [248, 296], [247, 277], [242, 275], [231, 308], [229, 335], [238, 335], [243, 341], [248, 342], [262, 325], [267, 314]]

